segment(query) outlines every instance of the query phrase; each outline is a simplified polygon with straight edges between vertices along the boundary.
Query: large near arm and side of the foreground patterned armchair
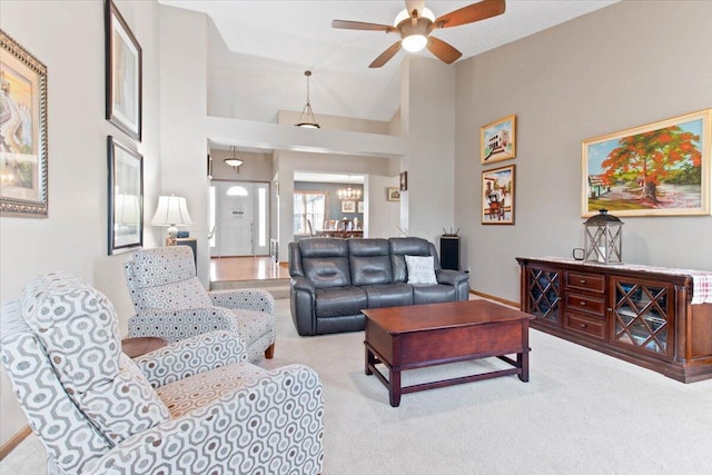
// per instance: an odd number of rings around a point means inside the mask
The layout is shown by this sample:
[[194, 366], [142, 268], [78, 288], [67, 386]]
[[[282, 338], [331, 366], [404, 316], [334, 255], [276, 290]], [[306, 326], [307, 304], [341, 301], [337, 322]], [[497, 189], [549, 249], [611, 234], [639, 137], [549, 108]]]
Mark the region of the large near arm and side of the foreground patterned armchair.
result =
[[199, 473], [314, 475], [324, 457], [323, 415], [317, 374], [285, 366], [127, 438], [83, 473], [182, 473], [181, 461], [189, 459], [191, 472]]

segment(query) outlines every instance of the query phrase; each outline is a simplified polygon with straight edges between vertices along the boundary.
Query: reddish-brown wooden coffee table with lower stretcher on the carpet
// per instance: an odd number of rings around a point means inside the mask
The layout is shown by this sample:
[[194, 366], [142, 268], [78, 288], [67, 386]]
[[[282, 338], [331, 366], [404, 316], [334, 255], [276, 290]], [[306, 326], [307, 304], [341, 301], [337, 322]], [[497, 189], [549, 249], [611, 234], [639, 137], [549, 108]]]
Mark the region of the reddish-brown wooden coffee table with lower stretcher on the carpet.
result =
[[[400, 395], [437, 387], [517, 375], [530, 379], [531, 315], [487, 300], [363, 310], [366, 316], [366, 374], [388, 388], [390, 405]], [[506, 355], [516, 354], [516, 360]], [[446, 363], [497, 357], [512, 368], [400, 387], [400, 372]], [[383, 364], [386, 376], [376, 367]]]

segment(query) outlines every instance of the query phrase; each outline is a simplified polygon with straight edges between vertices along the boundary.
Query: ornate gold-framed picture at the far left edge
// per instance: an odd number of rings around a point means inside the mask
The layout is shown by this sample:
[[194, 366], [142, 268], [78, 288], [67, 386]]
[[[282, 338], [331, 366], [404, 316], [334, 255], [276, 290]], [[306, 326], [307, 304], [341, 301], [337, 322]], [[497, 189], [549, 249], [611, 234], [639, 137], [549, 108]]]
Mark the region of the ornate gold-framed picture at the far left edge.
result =
[[0, 216], [47, 218], [47, 67], [0, 30]]

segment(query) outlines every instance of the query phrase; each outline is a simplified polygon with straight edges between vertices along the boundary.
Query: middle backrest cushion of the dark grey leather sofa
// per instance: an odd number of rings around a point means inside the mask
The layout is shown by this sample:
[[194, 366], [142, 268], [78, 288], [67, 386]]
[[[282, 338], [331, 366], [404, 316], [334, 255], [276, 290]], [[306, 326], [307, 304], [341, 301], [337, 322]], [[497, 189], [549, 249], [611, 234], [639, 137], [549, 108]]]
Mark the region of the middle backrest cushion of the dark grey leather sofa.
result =
[[352, 285], [378, 285], [393, 283], [390, 256], [386, 239], [349, 239], [349, 266]]

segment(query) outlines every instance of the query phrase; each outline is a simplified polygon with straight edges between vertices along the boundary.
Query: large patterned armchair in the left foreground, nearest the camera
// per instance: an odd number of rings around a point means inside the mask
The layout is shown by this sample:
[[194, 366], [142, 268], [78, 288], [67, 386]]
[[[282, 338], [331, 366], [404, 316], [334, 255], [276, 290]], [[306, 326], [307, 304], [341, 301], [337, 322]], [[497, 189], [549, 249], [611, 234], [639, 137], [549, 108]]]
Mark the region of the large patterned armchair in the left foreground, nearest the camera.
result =
[[1, 359], [49, 474], [317, 474], [323, 388], [301, 365], [245, 362], [229, 331], [140, 358], [111, 303], [70, 275], [2, 306]]

